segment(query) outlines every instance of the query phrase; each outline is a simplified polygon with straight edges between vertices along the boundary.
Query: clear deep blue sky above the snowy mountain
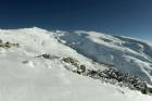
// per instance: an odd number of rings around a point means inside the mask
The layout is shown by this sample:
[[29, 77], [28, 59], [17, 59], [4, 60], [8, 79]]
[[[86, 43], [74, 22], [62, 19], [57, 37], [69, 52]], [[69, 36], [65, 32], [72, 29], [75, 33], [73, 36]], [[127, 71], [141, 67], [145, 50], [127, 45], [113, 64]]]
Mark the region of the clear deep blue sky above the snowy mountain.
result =
[[152, 40], [152, 0], [0, 0], [0, 28], [33, 26]]

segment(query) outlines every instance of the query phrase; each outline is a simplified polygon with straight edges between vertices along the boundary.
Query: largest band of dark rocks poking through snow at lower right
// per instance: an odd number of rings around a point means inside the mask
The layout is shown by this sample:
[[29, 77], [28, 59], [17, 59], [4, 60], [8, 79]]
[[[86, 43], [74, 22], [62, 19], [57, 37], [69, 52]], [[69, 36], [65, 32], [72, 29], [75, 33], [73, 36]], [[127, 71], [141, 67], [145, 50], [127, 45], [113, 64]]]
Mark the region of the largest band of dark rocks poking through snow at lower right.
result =
[[[142, 81], [140, 78], [138, 78], [135, 75], [123, 73], [116, 68], [109, 68], [105, 71], [88, 70], [87, 76], [90, 76], [92, 78], [99, 77], [99, 79], [100, 78], [113, 79], [116, 80], [117, 83], [123, 83], [124, 85], [128, 86], [130, 89], [137, 89], [142, 93], [148, 92], [148, 86], [144, 81]], [[150, 90], [149, 92], [152, 92], [152, 90]]]

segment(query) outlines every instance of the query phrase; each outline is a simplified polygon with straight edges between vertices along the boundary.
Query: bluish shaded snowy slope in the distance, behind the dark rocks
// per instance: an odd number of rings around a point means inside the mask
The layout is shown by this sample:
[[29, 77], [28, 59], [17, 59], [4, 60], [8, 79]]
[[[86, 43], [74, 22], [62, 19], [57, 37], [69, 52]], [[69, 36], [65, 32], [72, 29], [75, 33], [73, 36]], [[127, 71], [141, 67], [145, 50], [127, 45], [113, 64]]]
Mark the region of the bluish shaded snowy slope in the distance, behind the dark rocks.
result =
[[61, 31], [54, 36], [98, 63], [136, 74], [152, 84], [152, 47], [147, 42], [94, 31]]

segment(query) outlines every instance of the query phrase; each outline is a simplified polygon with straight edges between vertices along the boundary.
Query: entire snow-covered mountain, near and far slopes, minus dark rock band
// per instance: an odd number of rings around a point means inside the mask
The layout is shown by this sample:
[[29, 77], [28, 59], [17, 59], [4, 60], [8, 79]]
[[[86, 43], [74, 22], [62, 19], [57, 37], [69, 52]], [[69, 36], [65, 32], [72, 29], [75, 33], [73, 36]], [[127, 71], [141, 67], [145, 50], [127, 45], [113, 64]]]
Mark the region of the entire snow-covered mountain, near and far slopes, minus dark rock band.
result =
[[115, 67], [151, 85], [152, 47], [147, 42], [37, 27], [0, 29], [0, 101], [152, 101], [138, 90], [72, 72], [79, 65]]

